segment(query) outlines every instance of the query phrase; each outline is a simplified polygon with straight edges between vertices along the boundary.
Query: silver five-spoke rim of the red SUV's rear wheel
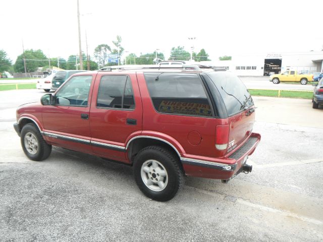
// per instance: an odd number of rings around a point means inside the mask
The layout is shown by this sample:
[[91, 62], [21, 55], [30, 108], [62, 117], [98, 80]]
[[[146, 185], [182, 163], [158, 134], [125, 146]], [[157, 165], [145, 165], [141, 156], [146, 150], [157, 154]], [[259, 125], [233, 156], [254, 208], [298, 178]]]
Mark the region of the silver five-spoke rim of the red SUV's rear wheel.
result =
[[141, 179], [152, 191], [163, 191], [168, 184], [168, 173], [164, 165], [156, 160], [146, 160], [141, 166]]

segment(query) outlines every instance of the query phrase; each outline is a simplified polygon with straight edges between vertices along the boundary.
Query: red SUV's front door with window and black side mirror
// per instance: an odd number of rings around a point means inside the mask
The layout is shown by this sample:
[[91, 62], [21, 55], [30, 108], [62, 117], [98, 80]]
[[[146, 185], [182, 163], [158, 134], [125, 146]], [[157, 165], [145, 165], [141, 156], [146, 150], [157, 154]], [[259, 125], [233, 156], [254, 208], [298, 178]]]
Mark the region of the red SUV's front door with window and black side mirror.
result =
[[89, 111], [92, 76], [72, 77], [55, 94], [55, 104], [44, 106], [45, 139], [67, 149], [91, 153]]

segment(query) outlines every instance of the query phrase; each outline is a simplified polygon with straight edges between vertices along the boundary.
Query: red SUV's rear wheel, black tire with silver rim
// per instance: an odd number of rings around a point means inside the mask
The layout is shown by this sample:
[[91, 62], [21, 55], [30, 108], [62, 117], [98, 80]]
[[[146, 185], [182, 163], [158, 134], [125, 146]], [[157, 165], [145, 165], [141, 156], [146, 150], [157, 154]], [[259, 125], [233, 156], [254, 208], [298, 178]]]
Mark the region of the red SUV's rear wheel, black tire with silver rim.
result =
[[179, 157], [159, 146], [148, 146], [139, 151], [134, 160], [133, 172], [141, 192], [160, 202], [174, 198], [184, 184]]

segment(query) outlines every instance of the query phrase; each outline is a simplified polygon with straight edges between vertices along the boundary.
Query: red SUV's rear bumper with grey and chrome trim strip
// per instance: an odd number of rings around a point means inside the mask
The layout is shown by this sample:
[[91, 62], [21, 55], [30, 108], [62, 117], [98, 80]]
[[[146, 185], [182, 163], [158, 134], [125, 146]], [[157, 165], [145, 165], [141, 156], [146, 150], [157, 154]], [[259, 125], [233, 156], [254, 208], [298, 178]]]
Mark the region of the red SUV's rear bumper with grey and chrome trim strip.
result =
[[252, 133], [249, 139], [229, 157], [217, 159], [219, 162], [197, 160], [181, 157], [184, 171], [187, 175], [230, 180], [244, 171], [248, 156], [251, 155], [260, 142], [260, 135]]

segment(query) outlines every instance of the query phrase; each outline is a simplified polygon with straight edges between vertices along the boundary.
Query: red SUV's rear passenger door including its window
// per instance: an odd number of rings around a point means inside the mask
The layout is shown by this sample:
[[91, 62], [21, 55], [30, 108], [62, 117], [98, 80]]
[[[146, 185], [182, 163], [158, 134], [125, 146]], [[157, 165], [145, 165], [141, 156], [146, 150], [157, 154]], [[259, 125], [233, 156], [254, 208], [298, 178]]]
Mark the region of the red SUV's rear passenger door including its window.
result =
[[126, 161], [126, 141], [142, 131], [142, 104], [135, 73], [99, 73], [90, 110], [93, 152]]

